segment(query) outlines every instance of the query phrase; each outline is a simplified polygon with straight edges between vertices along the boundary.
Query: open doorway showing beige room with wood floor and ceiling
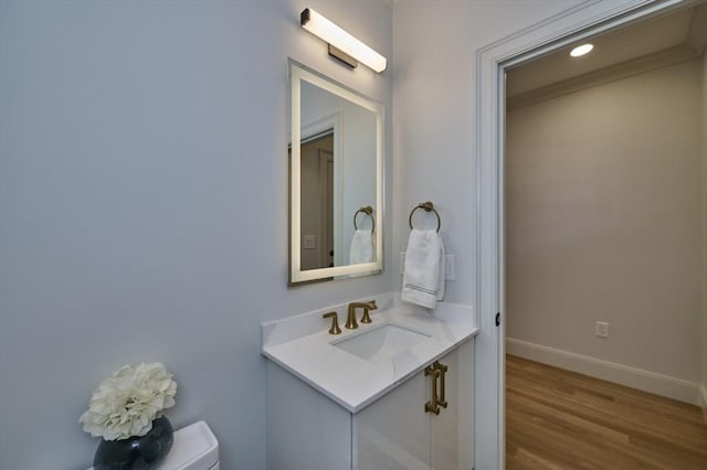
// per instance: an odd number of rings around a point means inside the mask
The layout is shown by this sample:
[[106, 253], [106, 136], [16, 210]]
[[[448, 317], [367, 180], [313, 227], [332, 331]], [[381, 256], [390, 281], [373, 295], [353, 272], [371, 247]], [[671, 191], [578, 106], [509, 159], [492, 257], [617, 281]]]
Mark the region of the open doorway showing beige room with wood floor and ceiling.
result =
[[[510, 470], [579, 467], [572, 456], [595, 468], [707, 467], [695, 406], [705, 44], [689, 43], [707, 29], [700, 18], [682, 9], [588, 38], [584, 56], [572, 44], [507, 72]], [[644, 408], [662, 409], [659, 423]]]

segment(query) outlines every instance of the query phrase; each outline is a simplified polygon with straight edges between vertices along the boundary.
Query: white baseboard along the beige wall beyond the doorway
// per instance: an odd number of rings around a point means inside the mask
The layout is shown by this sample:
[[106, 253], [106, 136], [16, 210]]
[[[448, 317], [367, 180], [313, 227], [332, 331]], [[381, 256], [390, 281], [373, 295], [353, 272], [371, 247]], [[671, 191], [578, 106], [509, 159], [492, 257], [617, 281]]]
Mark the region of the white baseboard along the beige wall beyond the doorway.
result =
[[707, 413], [707, 389], [695, 382], [513, 338], [506, 338], [506, 353], [701, 406]]

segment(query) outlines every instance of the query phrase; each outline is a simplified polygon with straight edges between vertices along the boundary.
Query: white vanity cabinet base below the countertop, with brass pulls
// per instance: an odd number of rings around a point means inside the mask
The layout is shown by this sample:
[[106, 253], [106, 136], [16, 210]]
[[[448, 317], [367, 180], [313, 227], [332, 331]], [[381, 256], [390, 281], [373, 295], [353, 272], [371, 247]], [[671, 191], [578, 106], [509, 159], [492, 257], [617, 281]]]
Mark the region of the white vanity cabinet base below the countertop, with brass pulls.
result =
[[[446, 366], [444, 397], [442, 378], [421, 371], [350, 413], [268, 361], [268, 469], [471, 470], [473, 362], [465, 341], [436, 362]], [[439, 415], [425, 412], [435, 399], [446, 400]]]

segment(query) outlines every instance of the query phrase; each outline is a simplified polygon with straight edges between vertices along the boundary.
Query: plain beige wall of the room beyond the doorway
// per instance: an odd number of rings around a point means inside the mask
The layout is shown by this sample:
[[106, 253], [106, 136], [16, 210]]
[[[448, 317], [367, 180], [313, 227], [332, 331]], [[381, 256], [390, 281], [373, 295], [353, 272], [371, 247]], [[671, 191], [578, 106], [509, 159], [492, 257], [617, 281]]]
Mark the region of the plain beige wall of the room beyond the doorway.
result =
[[509, 339], [701, 381], [701, 68], [508, 113]]

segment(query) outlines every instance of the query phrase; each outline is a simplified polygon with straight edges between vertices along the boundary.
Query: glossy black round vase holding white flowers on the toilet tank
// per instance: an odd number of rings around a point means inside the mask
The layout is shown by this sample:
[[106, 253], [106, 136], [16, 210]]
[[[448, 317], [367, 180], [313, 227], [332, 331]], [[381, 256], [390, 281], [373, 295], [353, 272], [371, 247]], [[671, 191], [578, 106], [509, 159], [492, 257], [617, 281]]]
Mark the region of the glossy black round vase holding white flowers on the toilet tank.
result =
[[148, 470], [167, 457], [175, 442], [172, 425], [165, 416], [152, 421], [145, 436], [102, 440], [93, 458], [95, 470]]

